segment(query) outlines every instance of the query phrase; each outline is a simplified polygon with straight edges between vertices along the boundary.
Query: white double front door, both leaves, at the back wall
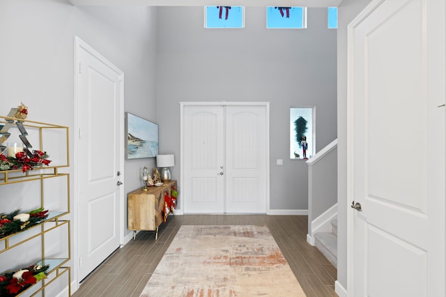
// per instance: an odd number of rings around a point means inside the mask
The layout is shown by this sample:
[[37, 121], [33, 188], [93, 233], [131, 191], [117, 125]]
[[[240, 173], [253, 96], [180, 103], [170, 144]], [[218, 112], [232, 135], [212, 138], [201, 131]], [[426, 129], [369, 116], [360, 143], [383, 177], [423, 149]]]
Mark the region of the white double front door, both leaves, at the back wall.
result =
[[266, 213], [268, 107], [182, 104], [184, 213]]

